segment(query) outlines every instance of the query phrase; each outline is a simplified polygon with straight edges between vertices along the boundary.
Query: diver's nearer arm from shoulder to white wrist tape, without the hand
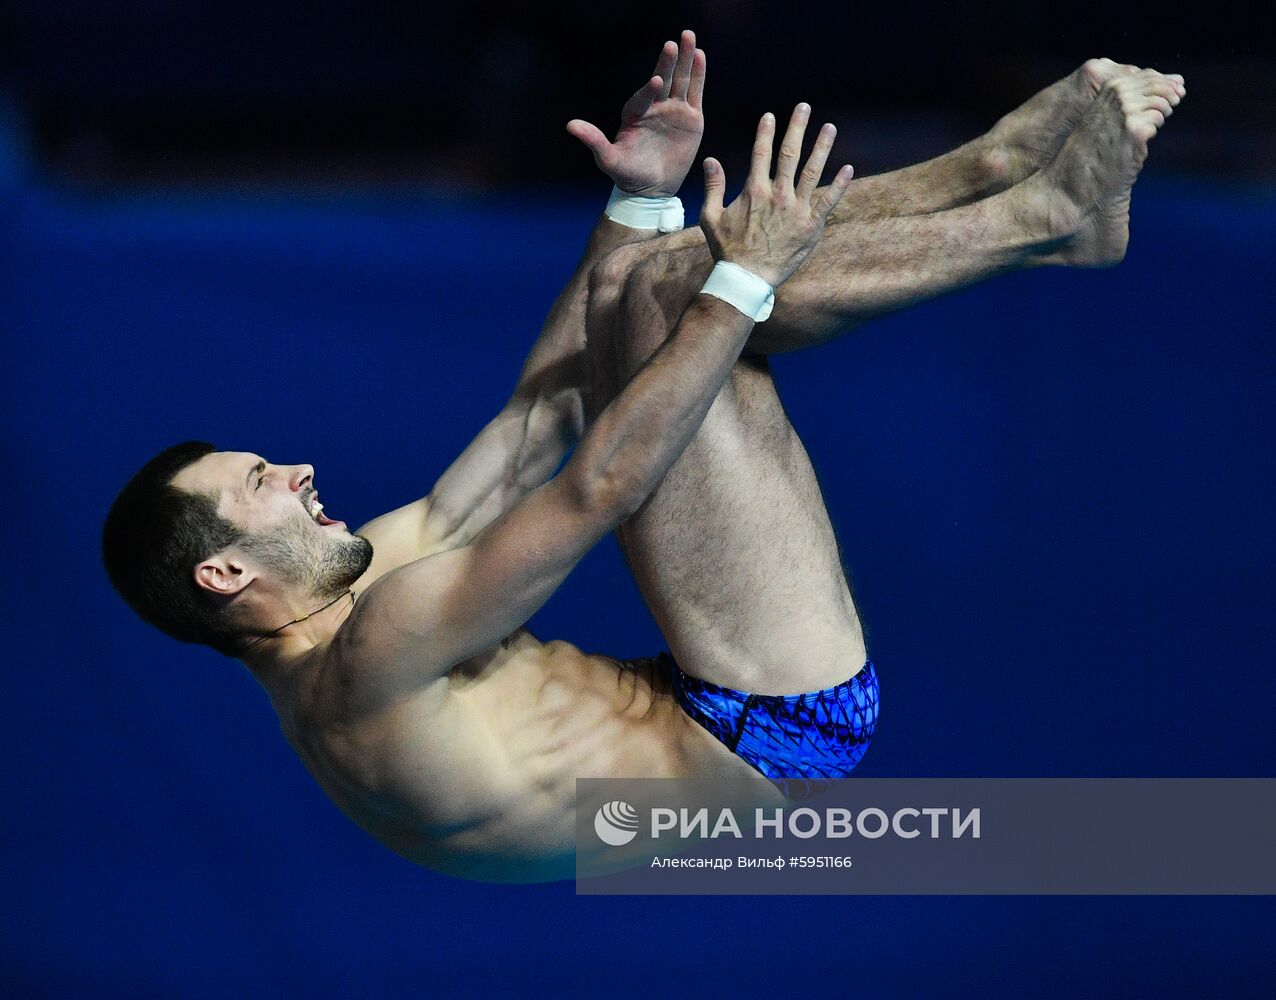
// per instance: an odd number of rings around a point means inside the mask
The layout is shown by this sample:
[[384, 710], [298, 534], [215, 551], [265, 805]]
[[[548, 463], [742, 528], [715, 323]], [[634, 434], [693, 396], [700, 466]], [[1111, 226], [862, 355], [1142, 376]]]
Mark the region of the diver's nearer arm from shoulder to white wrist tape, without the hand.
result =
[[694, 436], [752, 329], [743, 312], [699, 296], [556, 477], [470, 545], [373, 584], [347, 629], [361, 662], [388, 668], [375, 680], [392, 690], [419, 686], [526, 622], [655, 489]]

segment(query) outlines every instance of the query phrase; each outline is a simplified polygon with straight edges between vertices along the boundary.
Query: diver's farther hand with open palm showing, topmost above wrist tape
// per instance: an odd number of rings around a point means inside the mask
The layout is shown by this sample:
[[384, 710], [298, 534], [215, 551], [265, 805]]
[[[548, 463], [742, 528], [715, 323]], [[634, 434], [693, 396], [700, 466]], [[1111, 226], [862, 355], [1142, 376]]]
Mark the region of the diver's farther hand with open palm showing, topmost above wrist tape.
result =
[[703, 97], [704, 52], [695, 47], [695, 33], [684, 31], [680, 42], [665, 42], [652, 78], [620, 110], [614, 143], [581, 119], [569, 121], [567, 130], [590, 148], [621, 191], [675, 195], [704, 133]]

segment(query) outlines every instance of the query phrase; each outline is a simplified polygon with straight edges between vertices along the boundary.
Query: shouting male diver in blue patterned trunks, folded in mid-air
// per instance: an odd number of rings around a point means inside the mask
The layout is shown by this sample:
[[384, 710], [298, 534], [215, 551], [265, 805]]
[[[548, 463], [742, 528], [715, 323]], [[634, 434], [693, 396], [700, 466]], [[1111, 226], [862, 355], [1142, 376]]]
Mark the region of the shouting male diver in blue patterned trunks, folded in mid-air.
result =
[[[333, 801], [431, 869], [569, 876], [578, 777], [735, 777], [778, 800], [850, 773], [877, 672], [766, 357], [1008, 270], [1119, 261], [1184, 96], [1091, 60], [952, 153], [827, 188], [833, 129], [799, 170], [799, 105], [773, 175], [767, 115], [741, 195], [723, 207], [707, 159], [701, 226], [662, 233], [704, 75], [684, 32], [615, 142], [568, 125], [615, 182], [607, 214], [509, 403], [426, 497], [351, 533], [309, 466], [186, 443], [107, 517], [133, 608], [241, 659]], [[522, 628], [614, 529], [671, 656]]]

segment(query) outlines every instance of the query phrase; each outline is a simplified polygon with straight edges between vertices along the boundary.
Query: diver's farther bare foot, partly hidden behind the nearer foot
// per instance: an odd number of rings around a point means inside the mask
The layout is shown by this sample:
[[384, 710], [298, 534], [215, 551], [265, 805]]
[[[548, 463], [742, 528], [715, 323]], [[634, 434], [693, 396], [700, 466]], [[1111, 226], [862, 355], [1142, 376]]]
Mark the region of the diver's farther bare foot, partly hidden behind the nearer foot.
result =
[[[985, 166], [1002, 172], [1007, 186], [1018, 184], [1049, 163], [1109, 80], [1133, 77], [1138, 66], [1110, 59], [1088, 59], [1062, 80], [1000, 119], [984, 136]], [[1171, 105], [1183, 97], [1183, 78], [1174, 82]]]

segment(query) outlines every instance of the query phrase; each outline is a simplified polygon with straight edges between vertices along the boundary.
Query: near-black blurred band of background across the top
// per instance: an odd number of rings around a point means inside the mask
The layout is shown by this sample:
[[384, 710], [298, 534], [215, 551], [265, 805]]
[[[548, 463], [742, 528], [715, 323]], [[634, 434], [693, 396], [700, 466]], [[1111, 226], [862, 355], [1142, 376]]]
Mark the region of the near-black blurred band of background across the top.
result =
[[708, 133], [813, 102], [861, 175], [975, 135], [1087, 56], [1179, 71], [1170, 171], [1276, 172], [1276, 42], [1259, 8], [1148, 3], [10, 3], [0, 89], [77, 185], [574, 185], [563, 125], [611, 131], [665, 37], [709, 54]]

